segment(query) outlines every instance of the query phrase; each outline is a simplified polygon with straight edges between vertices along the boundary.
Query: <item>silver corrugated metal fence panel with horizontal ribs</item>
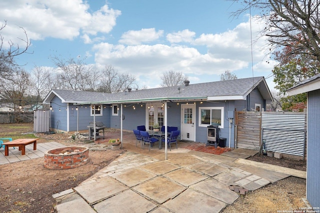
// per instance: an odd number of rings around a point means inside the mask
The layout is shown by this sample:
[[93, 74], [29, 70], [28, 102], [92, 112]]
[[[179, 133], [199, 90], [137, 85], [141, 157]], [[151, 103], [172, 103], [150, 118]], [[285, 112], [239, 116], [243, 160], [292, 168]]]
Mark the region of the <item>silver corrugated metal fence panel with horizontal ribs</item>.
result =
[[265, 140], [265, 149], [304, 156], [305, 118], [304, 112], [262, 112], [262, 140]]

